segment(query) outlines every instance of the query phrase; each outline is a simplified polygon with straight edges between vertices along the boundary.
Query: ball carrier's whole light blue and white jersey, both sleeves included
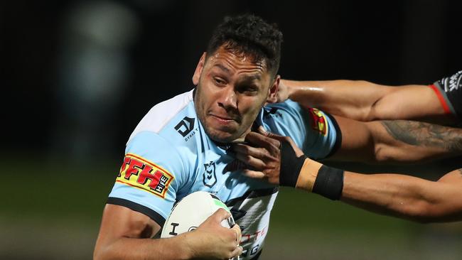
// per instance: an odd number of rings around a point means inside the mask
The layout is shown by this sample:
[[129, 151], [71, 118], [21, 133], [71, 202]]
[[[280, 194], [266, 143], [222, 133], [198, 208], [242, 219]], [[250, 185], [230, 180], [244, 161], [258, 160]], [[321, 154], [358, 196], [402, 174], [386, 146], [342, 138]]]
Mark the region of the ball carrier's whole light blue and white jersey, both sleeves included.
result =
[[[338, 146], [335, 121], [290, 100], [264, 107], [256, 123], [291, 136], [312, 158], [325, 158]], [[278, 188], [232, 171], [238, 163], [227, 148], [205, 134], [193, 90], [161, 102], [131, 134], [107, 202], [144, 213], [162, 226], [176, 201], [207, 191], [230, 207], [242, 229], [241, 259], [252, 259], [262, 249]]]

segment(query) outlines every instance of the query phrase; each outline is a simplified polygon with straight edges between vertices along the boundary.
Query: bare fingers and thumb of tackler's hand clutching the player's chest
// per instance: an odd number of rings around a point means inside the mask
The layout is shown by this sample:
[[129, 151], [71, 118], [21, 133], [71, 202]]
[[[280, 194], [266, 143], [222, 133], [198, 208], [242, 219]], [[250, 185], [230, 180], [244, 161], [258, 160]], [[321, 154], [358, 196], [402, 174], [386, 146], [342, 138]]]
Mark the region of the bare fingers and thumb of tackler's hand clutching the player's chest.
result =
[[275, 185], [279, 185], [281, 173], [281, 142], [289, 143], [297, 157], [303, 156], [303, 151], [290, 137], [269, 133], [262, 126], [257, 132], [247, 134], [245, 141], [249, 145], [237, 143], [233, 146], [236, 158], [249, 166], [243, 170], [244, 174]]

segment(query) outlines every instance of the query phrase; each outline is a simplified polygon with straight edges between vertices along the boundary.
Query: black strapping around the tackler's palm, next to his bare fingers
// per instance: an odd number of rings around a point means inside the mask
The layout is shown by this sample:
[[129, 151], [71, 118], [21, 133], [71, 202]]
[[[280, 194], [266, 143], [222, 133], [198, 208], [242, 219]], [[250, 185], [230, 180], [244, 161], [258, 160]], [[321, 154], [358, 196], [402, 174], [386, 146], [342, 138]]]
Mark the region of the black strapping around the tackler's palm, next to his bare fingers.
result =
[[306, 156], [297, 157], [294, 148], [288, 141], [281, 141], [281, 173], [279, 174], [279, 185], [295, 187], [299, 179], [301, 167]]

